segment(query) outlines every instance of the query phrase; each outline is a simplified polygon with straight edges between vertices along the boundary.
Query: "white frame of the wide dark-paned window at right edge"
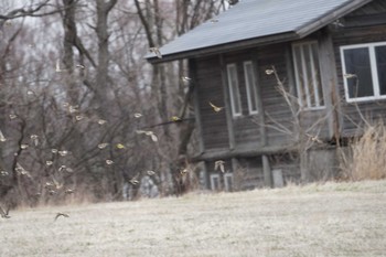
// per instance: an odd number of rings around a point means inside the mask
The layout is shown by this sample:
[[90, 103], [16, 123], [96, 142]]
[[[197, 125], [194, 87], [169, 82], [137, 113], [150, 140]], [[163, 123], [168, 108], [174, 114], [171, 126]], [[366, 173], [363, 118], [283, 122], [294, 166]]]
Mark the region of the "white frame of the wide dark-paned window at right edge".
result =
[[[378, 77], [378, 69], [377, 69], [377, 63], [376, 63], [376, 55], [375, 55], [375, 47], [376, 46], [386, 46], [386, 42], [375, 42], [375, 43], [364, 43], [364, 44], [351, 44], [351, 45], [344, 45], [341, 46], [341, 63], [342, 63], [342, 72], [343, 72], [343, 85], [344, 85], [344, 93], [346, 97], [347, 103], [358, 103], [358, 101], [368, 101], [368, 100], [379, 100], [379, 99], [386, 99], [386, 95], [380, 95], [379, 90], [379, 77]], [[350, 97], [349, 94], [349, 83], [347, 79], [360, 79], [357, 77], [346, 77], [346, 66], [345, 66], [345, 60], [344, 60], [344, 51], [345, 50], [352, 50], [352, 49], [368, 49], [368, 55], [369, 55], [369, 65], [372, 69], [372, 79], [373, 79], [373, 96], [363, 96], [363, 97]], [[354, 74], [353, 74], [354, 75]]]

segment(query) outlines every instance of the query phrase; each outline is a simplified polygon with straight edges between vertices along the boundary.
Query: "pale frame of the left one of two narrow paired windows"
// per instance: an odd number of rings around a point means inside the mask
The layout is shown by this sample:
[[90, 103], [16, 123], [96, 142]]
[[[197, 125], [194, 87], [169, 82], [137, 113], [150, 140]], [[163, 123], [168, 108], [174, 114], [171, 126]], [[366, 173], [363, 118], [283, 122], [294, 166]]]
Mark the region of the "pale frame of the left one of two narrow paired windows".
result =
[[[230, 68], [235, 69], [235, 82], [236, 85], [233, 84], [232, 75], [233, 73], [230, 72]], [[240, 84], [238, 79], [238, 72], [237, 72], [237, 65], [236, 63], [229, 63], [226, 65], [226, 75], [228, 79], [228, 90], [229, 90], [229, 100], [230, 100], [230, 109], [232, 109], [232, 115], [233, 117], [240, 117], [243, 115], [243, 105], [242, 105], [242, 96], [240, 96]], [[236, 96], [234, 95], [234, 90], [236, 90]], [[236, 108], [236, 97], [238, 100], [238, 106]], [[239, 111], [237, 111], [239, 109]]]

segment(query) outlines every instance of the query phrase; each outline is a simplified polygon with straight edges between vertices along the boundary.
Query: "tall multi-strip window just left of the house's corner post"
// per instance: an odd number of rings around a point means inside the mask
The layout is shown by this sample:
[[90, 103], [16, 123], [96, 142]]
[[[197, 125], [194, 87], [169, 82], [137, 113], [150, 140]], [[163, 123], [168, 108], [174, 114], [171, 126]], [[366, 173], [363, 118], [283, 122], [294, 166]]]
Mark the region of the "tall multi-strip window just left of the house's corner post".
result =
[[301, 106], [308, 109], [324, 107], [317, 42], [292, 45], [294, 76]]

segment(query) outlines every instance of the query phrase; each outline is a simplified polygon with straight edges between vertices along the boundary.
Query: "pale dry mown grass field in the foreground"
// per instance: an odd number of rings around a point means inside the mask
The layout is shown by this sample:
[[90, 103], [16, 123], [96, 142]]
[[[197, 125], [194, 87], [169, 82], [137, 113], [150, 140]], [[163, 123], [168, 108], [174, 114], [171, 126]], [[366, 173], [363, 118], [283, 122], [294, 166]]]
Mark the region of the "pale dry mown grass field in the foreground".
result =
[[[69, 217], [58, 217], [57, 212]], [[386, 181], [20, 208], [0, 256], [386, 256]]]

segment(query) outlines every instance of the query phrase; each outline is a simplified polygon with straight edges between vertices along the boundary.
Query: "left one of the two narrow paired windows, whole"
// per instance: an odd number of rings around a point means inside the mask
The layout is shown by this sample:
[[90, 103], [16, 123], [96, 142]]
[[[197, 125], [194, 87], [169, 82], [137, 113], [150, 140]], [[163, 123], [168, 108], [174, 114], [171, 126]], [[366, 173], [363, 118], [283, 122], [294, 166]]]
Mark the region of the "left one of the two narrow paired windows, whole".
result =
[[242, 100], [237, 77], [237, 66], [236, 64], [228, 64], [226, 69], [228, 75], [232, 114], [234, 117], [242, 116]]

